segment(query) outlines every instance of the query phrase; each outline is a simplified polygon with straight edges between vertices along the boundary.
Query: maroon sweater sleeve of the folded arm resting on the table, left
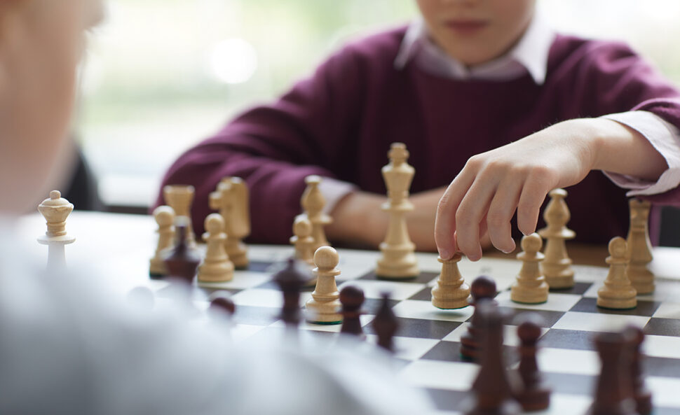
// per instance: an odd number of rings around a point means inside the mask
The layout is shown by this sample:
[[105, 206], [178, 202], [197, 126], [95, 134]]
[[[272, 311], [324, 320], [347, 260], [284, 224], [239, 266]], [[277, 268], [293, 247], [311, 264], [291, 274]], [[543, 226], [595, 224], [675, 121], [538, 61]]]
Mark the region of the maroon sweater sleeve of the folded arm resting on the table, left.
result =
[[246, 111], [179, 157], [163, 185], [196, 188], [191, 213], [197, 232], [210, 213], [209, 193], [222, 177], [238, 176], [250, 189], [250, 240], [287, 243], [304, 178], [336, 178], [340, 163], [348, 162], [341, 155], [358, 122], [359, 66], [351, 47], [341, 50], [278, 101]]

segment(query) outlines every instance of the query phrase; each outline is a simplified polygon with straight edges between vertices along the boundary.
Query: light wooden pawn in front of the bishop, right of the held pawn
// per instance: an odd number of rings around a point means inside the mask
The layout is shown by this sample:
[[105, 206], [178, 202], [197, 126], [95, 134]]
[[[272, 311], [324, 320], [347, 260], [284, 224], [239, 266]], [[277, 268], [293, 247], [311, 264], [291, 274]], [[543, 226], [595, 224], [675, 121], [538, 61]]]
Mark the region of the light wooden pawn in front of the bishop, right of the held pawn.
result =
[[517, 274], [516, 281], [510, 289], [510, 300], [524, 304], [539, 304], [548, 301], [548, 283], [540, 273], [538, 263], [543, 260], [540, 246], [543, 241], [538, 234], [522, 237], [522, 251], [517, 259], [522, 261], [522, 269]]

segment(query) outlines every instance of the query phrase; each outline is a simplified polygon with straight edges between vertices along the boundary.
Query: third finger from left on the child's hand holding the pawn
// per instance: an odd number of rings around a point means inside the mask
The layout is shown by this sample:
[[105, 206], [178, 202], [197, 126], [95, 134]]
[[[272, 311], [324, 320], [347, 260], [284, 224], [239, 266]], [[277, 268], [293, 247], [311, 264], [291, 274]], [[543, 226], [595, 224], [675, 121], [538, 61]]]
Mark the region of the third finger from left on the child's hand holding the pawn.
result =
[[518, 183], [516, 180], [503, 181], [498, 186], [487, 213], [487, 227], [491, 244], [505, 253], [515, 251], [510, 220], [512, 220], [512, 214], [515, 213], [517, 208], [521, 190], [521, 182]]

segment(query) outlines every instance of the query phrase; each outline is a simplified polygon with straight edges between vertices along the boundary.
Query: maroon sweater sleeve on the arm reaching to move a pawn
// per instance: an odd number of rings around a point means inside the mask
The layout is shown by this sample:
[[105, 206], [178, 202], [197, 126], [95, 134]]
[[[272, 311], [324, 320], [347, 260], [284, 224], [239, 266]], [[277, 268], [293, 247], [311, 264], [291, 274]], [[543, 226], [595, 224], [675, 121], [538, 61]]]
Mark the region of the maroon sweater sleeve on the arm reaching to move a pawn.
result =
[[[598, 115], [647, 111], [670, 126], [680, 128], [680, 92], [653, 66], [623, 43], [592, 43], [583, 68], [585, 87], [590, 87], [592, 103], [599, 106]], [[676, 148], [672, 134], [662, 137], [664, 143], [655, 147]], [[672, 188], [654, 195], [637, 195], [658, 204], [680, 206], [680, 188]]]

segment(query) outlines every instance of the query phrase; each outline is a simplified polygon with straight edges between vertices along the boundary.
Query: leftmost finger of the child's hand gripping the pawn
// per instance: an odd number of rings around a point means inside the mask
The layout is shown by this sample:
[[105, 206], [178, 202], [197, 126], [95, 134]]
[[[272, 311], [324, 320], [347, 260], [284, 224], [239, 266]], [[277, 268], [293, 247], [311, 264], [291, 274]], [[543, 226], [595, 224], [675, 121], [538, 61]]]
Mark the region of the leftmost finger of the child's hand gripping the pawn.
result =
[[435, 216], [435, 244], [440, 257], [449, 260], [457, 251], [456, 244], [456, 210], [461, 199], [472, 184], [473, 175], [461, 174], [451, 182], [437, 204], [437, 216]]

